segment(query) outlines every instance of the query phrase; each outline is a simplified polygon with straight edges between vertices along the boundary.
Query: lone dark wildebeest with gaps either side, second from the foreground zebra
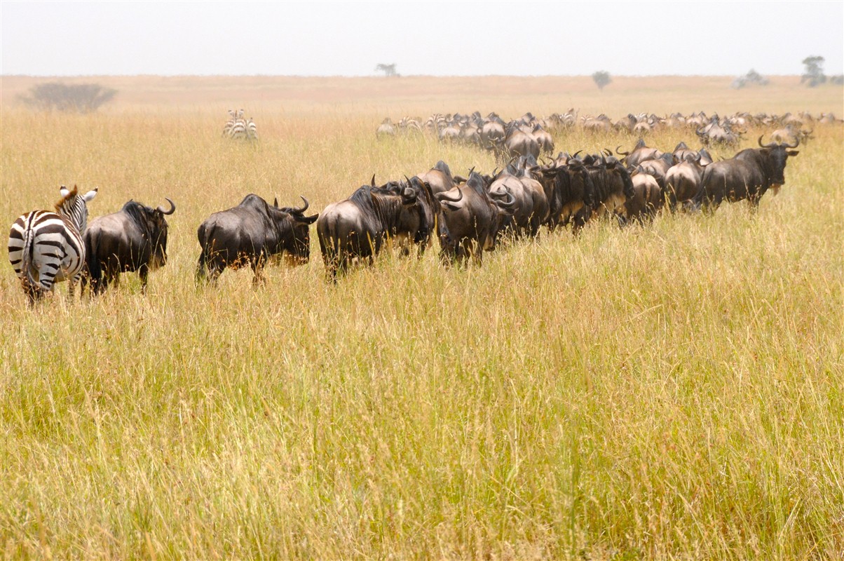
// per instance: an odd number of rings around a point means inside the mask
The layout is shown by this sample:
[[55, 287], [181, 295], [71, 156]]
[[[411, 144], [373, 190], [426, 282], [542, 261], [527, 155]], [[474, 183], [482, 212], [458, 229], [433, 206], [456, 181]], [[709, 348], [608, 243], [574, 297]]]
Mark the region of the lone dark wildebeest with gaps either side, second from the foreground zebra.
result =
[[226, 267], [250, 265], [254, 284], [262, 280], [264, 264], [273, 256], [284, 255], [290, 264], [305, 264], [311, 257], [308, 226], [319, 215], [306, 216], [305, 206], [279, 208], [276, 199], [267, 201], [251, 193], [234, 208], [210, 215], [197, 230], [202, 248], [197, 264], [197, 280], [214, 282]]

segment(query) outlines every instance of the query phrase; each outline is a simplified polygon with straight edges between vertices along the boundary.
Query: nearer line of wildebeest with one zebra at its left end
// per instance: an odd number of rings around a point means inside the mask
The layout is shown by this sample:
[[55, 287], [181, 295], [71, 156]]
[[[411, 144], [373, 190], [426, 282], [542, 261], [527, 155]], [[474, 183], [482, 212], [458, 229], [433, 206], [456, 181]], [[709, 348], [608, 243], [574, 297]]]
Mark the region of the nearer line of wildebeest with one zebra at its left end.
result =
[[[572, 224], [578, 231], [588, 222], [614, 217], [619, 225], [649, 221], [663, 205], [671, 210], [708, 210], [723, 200], [746, 199], [751, 210], [771, 188], [785, 183], [788, 157], [799, 144], [769, 142], [741, 150], [733, 158], [711, 161], [706, 149], [678, 144], [671, 152], [648, 147], [640, 140], [629, 152], [616, 149], [598, 154], [560, 153], [539, 165], [533, 155], [513, 158], [491, 175], [470, 170], [468, 177], [452, 176], [445, 162], [403, 180], [354, 191], [348, 199], [328, 204], [318, 215], [301, 207], [272, 205], [249, 194], [234, 208], [210, 215], [199, 226], [201, 252], [197, 282], [214, 283], [226, 268], [251, 266], [253, 282], [262, 282], [262, 269], [271, 259], [289, 264], [310, 259], [310, 226], [316, 222], [327, 276], [354, 262], [368, 262], [386, 244], [398, 245], [403, 255], [415, 246], [419, 256], [434, 237], [446, 264], [481, 264], [499, 237], [537, 237], [541, 226], [555, 231]], [[619, 147], [620, 148], [620, 147]], [[35, 210], [14, 222], [9, 233], [9, 261], [30, 305], [54, 283], [73, 286], [89, 281], [99, 293], [119, 283], [122, 272], [138, 271], [142, 291], [150, 270], [166, 263], [167, 221], [176, 205], [152, 209], [134, 200], [122, 210], [88, 222], [87, 204], [97, 191], [84, 195], [76, 187], [60, 188], [56, 212]]]

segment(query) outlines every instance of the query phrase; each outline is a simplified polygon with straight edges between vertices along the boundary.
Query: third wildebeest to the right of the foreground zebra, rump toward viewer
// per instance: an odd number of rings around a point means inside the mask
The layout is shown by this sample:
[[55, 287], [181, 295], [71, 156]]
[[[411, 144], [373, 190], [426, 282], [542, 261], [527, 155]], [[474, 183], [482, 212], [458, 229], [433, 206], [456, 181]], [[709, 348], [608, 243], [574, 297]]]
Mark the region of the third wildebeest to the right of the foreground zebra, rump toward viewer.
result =
[[[419, 179], [417, 178], [417, 181]], [[358, 188], [349, 199], [328, 204], [317, 221], [317, 236], [322, 260], [332, 280], [348, 270], [354, 259], [372, 259], [390, 237], [415, 236], [418, 223], [402, 222], [413, 217], [418, 207], [418, 192], [409, 186], [396, 193], [389, 188], [371, 185]]]

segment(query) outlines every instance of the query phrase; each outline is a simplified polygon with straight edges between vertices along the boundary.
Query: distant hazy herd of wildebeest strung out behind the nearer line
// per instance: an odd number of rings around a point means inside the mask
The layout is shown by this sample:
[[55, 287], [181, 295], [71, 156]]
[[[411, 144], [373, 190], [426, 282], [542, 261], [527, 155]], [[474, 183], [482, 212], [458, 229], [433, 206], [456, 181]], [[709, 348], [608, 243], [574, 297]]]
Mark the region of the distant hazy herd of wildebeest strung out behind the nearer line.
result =
[[684, 116], [672, 113], [668, 117], [658, 117], [653, 113], [628, 113], [627, 117], [613, 121], [603, 113], [594, 116], [581, 116], [572, 108], [564, 113], [553, 113], [548, 117], [534, 117], [527, 112], [522, 117], [505, 122], [495, 112], [482, 117], [480, 112], [471, 115], [454, 113], [443, 115], [436, 113], [423, 120], [419, 117], [402, 117], [393, 123], [390, 117], [384, 119], [376, 129], [376, 137], [391, 137], [398, 133], [432, 133], [442, 142], [463, 142], [475, 144], [486, 150], [494, 150], [501, 159], [554, 153], [554, 139], [551, 133], [571, 130], [578, 125], [583, 131], [591, 133], [609, 133], [611, 130], [625, 131], [639, 137], [660, 128], [694, 129], [701, 144], [705, 146], [722, 144], [737, 146], [749, 126], [778, 127], [771, 133], [771, 139], [779, 142], [805, 142], [814, 132], [814, 123], [836, 123], [832, 113], [821, 113], [813, 117], [808, 112], [786, 113], [782, 116], [747, 112], [735, 113], [726, 117], [716, 114], [707, 117], [704, 112]]

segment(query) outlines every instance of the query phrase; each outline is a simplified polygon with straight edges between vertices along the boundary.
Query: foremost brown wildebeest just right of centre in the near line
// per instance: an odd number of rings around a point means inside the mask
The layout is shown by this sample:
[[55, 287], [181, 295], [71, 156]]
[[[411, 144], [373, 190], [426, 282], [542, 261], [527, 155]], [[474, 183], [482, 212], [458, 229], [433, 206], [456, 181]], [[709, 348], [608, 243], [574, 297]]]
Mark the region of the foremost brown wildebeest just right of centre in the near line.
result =
[[465, 262], [471, 257], [481, 264], [484, 251], [495, 248], [498, 231], [514, 204], [510, 193], [503, 200], [496, 197], [476, 172], [470, 172], [463, 185], [436, 196], [445, 222], [440, 237], [445, 259]]

